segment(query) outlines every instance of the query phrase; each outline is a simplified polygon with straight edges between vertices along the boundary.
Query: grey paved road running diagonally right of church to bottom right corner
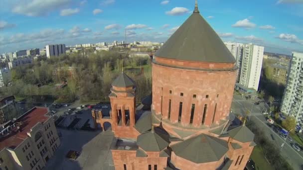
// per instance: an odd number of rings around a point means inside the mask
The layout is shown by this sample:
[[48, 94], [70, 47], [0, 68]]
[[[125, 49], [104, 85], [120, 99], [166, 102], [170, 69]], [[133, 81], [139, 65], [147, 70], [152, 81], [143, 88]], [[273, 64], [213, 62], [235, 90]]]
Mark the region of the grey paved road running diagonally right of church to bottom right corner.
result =
[[[264, 133], [269, 140], [276, 144], [277, 147], [281, 148], [281, 145], [284, 143], [284, 139], [267, 126], [265, 116], [262, 114], [262, 108], [260, 108], [261, 106], [253, 104], [254, 102], [255, 101], [253, 100], [242, 99], [239, 95], [234, 95], [231, 110], [235, 114], [243, 114], [246, 110], [252, 110], [249, 119], [254, 121], [258, 127], [264, 130]], [[273, 135], [273, 138], [271, 135]], [[294, 168], [294, 170], [303, 170], [303, 151], [297, 152], [294, 150], [289, 140], [287, 140], [287, 143], [281, 150], [281, 154]]]

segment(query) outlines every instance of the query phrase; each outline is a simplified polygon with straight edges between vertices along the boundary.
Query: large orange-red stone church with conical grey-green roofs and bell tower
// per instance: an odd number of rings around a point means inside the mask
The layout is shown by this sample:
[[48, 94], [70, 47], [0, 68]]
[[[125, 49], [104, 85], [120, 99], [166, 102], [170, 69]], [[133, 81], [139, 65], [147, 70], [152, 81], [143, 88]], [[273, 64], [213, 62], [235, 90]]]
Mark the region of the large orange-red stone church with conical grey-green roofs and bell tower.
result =
[[[231, 126], [235, 58], [193, 13], [154, 54], [151, 109], [136, 111], [136, 85], [125, 73], [112, 83], [110, 123], [116, 170], [243, 170], [254, 146], [245, 126]], [[148, 102], [145, 102], [148, 103]]]

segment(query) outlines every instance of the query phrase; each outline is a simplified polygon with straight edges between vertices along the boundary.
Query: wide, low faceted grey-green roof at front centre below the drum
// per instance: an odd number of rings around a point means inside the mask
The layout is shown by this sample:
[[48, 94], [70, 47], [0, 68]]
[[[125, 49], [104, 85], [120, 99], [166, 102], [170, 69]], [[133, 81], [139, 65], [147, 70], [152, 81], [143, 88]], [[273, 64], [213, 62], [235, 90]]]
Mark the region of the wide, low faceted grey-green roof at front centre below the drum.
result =
[[228, 151], [226, 141], [205, 134], [189, 138], [171, 148], [177, 156], [196, 164], [218, 161]]

